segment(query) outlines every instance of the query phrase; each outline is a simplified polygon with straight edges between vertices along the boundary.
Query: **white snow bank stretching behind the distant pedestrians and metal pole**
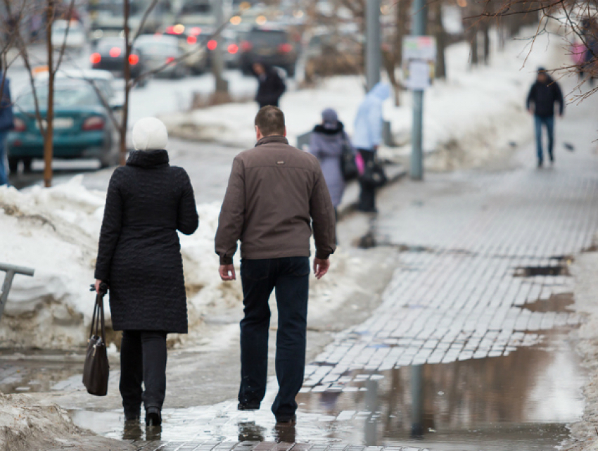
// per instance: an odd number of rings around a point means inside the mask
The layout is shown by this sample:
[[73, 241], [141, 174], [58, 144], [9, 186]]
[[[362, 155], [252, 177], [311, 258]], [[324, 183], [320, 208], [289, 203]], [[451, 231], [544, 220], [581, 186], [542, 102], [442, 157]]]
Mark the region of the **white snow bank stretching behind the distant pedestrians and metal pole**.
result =
[[[432, 168], [462, 166], [460, 160], [478, 165], [509, 141], [528, 139], [531, 120], [524, 105], [535, 71], [539, 65], [556, 67], [555, 61], [566, 54], [560, 39], [551, 40], [547, 34], [537, 38], [531, 54], [529, 44], [526, 39], [508, 42], [504, 51], [495, 49], [488, 66], [475, 69], [469, 67], [469, 44], [463, 42], [447, 49], [447, 80], [435, 82], [425, 94], [424, 148], [438, 153], [430, 163]], [[364, 80], [359, 76], [331, 77], [317, 88], [288, 92], [281, 108], [291, 143], [319, 122], [324, 108], [335, 108], [348, 132], [352, 132], [363, 96]], [[392, 151], [384, 149], [383, 155], [390, 158], [410, 150], [405, 146], [412, 126], [410, 93], [402, 93], [400, 101], [400, 107], [390, 100], [385, 104], [384, 114], [391, 122], [395, 141], [403, 146]], [[230, 103], [162, 119], [173, 135], [248, 148], [255, 142], [256, 112], [255, 103]]]

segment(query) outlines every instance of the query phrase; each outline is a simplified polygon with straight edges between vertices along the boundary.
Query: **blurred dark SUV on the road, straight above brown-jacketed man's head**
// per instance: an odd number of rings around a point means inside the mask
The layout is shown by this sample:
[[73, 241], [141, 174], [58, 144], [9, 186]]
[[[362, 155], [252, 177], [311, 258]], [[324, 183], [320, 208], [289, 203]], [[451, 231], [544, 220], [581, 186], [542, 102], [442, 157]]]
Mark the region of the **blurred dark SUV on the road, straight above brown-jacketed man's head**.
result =
[[286, 70], [289, 77], [295, 76], [297, 49], [286, 30], [254, 28], [241, 42], [241, 70], [253, 73], [253, 63], [278, 66]]

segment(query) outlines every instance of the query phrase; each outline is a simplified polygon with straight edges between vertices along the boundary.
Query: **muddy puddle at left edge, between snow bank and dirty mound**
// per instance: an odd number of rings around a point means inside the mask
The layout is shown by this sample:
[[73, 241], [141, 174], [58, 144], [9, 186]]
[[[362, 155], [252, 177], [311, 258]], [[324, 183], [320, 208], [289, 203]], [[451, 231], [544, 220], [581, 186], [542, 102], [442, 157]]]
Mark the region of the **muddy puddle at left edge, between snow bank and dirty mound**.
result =
[[82, 372], [83, 356], [48, 350], [0, 349], [0, 392], [59, 390]]

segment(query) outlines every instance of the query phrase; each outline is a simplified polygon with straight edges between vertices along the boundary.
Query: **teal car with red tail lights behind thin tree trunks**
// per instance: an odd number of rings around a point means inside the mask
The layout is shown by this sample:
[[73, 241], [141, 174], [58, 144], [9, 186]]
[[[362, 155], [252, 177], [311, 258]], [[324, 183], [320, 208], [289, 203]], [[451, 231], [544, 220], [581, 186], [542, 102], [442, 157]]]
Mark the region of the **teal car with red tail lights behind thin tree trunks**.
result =
[[[39, 105], [46, 105], [48, 84], [40, 82], [36, 91]], [[45, 108], [40, 113], [44, 120]], [[118, 163], [117, 129], [96, 90], [88, 82], [56, 80], [54, 114], [54, 158], [97, 158], [101, 167]], [[18, 170], [20, 160], [25, 167], [30, 167], [33, 159], [44, 158], [44, 138], [39, 131], [31, 89], [17, 96], [14, 116], [15, 129], [8, 133], [7, 139], [11, 172]]]

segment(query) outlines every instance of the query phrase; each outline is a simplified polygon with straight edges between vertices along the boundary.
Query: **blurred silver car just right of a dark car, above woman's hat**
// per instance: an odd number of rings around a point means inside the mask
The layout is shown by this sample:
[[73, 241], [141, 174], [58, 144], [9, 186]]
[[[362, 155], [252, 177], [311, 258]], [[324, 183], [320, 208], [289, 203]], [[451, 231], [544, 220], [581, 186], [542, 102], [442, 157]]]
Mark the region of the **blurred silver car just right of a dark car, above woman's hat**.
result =
[[176, 61], [184, 53], [176, 37], [164, 34], [140, 36], [135, 42], [135, 51], [143, 56], [146, 70], [163, 68], [155, 74], [156, 77], [182, 78], [189, 74], [190, 62], [186, 59]]

